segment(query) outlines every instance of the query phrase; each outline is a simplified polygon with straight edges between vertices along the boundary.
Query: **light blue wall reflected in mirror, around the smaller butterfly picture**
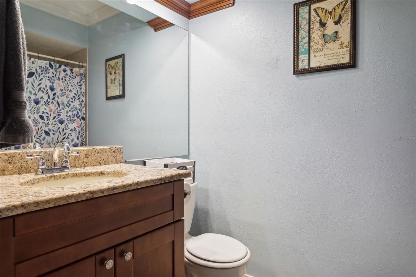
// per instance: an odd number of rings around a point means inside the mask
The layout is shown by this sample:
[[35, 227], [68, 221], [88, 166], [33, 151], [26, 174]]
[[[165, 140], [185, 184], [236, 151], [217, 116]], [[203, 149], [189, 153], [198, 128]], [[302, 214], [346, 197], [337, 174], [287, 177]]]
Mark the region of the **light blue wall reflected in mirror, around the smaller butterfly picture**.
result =
[[[105, 60], [125, 54], [126, 97], [105, 99]], [[188, 32], [120, 13], [89, 27], [88, 141], [124, 159], [188, 154]]]

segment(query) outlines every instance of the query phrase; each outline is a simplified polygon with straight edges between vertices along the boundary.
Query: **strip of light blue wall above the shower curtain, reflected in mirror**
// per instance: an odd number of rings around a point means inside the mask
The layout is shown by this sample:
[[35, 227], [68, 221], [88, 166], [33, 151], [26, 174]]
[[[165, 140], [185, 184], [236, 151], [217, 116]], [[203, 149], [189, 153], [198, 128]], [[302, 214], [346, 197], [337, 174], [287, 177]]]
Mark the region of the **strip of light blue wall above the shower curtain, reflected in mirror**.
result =
[[20, 4], [23, 27], [47, 37], [88, 47], [88, 27]]

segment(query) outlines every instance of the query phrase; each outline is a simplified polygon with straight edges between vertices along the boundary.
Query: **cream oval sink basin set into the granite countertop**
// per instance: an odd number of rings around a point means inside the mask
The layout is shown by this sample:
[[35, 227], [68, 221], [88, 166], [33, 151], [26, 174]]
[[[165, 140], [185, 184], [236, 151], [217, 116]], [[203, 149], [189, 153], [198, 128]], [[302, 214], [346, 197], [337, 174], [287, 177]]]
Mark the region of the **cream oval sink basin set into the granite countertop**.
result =
[[69, 185], [83, 185], [92, 183], [102, 183], [126, 176], [122, 171], [88, 171], [88, 172], [68, 172], [64, 174], [45, 174], [37, 178], [20, 183], [20, 185], [30, 187], [63, 187]]

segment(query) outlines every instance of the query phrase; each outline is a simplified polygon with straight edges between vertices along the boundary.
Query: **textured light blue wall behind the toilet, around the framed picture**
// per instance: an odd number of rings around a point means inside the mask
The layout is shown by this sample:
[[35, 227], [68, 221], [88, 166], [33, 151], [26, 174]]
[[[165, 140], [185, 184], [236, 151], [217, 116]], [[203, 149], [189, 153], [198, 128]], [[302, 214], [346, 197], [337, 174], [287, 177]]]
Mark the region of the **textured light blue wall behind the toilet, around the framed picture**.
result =
[[358, 1], [357, 67], [297, 76], [294, 2], [190, 21], [191, 234], [255, 277], [415, 276], [416, 1]]

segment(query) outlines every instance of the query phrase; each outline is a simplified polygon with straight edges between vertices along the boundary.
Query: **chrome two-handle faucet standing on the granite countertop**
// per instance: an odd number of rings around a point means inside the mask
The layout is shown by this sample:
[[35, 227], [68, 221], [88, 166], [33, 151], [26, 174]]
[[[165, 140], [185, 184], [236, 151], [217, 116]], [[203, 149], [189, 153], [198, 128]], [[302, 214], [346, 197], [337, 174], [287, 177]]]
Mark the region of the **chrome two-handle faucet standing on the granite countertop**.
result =
[[[62, 159], [61, 166], [59, 166], [59, 150], [61, 148], [64, 148], [64, 158]], [[45, 161], [45, 153], [40, 154], [27, 154], [26, 158], [40, 158], [40, 162], [37, 167], [37, 173], [36, 174], [47, 174], [47, 173], [58, 173], [58, 172], [66, 172], [71, 171], [71, 167], [69, 166], [69, 160], [68, 155], [78, 156], [79, 152], [74, 151], [72, 152], [71, 146], [66, 141], [59, 141], [52, 151], [52, 157], [51, 153], [47, 152], [49, 155], [49, 158], [51, 160], [51, 166], [47, 167], [46, 161]]]

